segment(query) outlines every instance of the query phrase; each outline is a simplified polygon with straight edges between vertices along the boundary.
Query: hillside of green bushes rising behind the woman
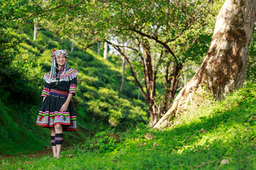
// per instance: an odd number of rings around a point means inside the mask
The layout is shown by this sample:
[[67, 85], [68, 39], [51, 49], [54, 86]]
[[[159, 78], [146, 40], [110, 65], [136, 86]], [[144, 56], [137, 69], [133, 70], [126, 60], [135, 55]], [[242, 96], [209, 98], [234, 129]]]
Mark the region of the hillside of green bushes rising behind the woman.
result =
[[79, 72], [78, 93], [73, 98], [78, 131], [64, 134], [66, 146], [87, 140], [110, 123], [125, 129], [124, 122], [148, 121], [146, 104], [135, 99], [137, 87], [133, 81], [126, 79], [124, 91], [119, 94], [122, 68], [118, 57], [103, 60], [93, 50], [85, 52], [79, 46], [71, 53], [69, 40], [47, 30], [40, 30], [36, 41], [32, 40], [33, 30], [24, 30], [20, 36], [23, 42], [16, 47], [16, 56], [9, 66], [14, 74], [4, 79], [9, 86], [0, 86], [0, 154], [50, 146], [49, 130], [37, 126], [36, 118], [41, 106], [43, 75], [50, 71], [53, 49], [67, 49], [69, 67]]

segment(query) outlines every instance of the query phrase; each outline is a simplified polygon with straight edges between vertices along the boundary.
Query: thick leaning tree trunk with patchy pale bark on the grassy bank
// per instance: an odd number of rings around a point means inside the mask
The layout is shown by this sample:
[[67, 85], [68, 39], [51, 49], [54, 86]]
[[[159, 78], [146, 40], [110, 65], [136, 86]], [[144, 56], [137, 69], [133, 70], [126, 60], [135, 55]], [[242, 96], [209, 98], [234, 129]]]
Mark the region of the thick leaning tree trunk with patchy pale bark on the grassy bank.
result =
[[179, 92], [173, 106], [154, 128], [166, 127], [171, 118], [182, 113], [188, 101], [193, 102], [193, 94], [201, 91], [202, 86], [206, 86], [217, 99], [242, 86], [255, 16], [256, 0], [225, 1], [201, 68]]

